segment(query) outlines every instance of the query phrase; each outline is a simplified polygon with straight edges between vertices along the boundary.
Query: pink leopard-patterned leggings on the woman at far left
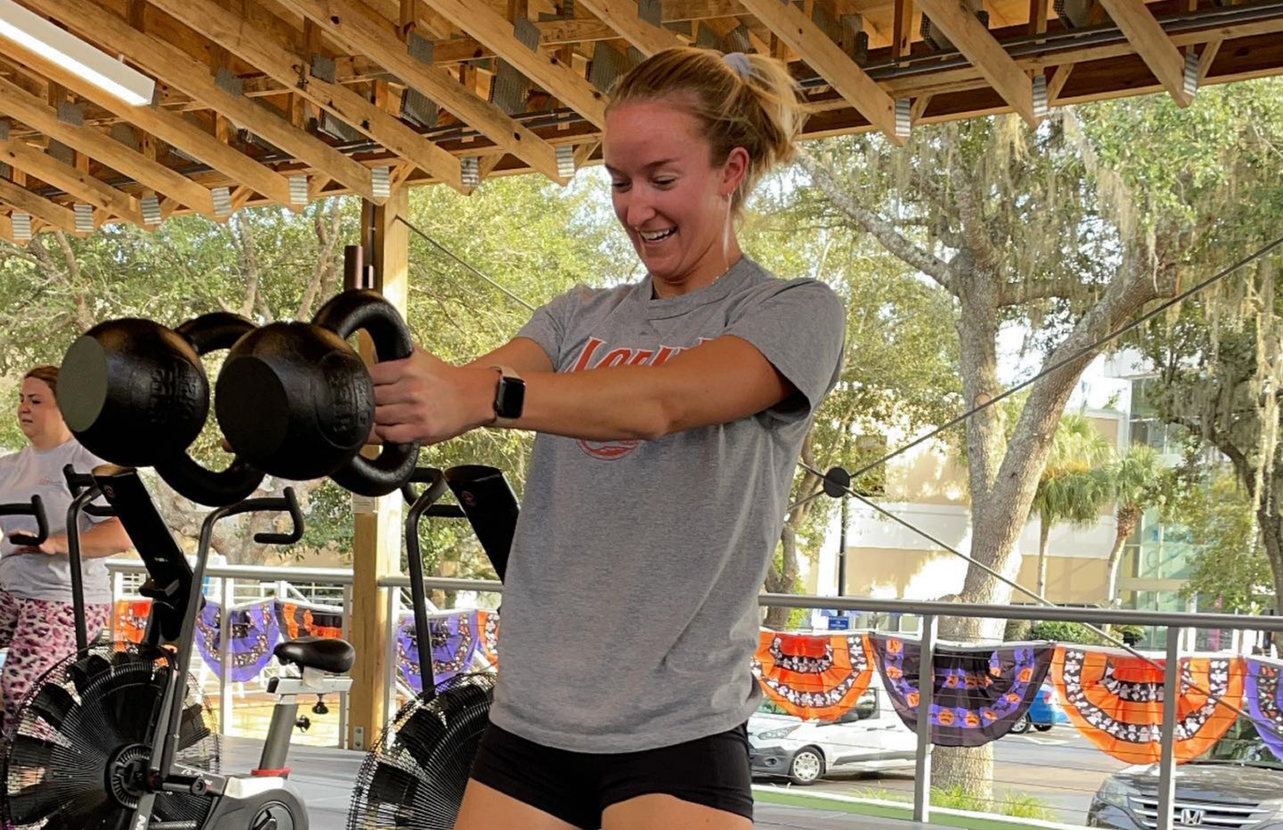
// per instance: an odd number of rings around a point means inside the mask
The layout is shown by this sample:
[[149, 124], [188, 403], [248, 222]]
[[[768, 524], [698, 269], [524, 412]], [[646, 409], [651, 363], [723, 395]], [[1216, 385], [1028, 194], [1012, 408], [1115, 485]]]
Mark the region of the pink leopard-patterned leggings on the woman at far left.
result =
[[[112, 620], [110, 604], [85, 607], [89, 639]], [[76, 650], [76, 614], [72, 606], [45, 599], [14, 597], [0, 589], [0, 648], [9, 648], [0, 672], [0, 694], [4, 695], [3, 734], [14, 725], [18, 707], [32, 684], [54, 663]]]

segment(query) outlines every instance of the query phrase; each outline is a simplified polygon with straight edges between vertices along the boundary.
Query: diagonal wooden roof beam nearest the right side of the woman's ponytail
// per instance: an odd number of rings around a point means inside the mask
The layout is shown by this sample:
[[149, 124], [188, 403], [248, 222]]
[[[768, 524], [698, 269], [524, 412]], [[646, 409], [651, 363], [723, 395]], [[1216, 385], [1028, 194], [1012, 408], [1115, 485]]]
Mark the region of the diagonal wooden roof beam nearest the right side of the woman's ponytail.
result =
[[894, 144], [903, 144], [905, 140], [896, 136], [896, 103], [890, 95], [801, 9], [779, 0], [744, 0], [744, 8], [819, 72], [869, 123]]

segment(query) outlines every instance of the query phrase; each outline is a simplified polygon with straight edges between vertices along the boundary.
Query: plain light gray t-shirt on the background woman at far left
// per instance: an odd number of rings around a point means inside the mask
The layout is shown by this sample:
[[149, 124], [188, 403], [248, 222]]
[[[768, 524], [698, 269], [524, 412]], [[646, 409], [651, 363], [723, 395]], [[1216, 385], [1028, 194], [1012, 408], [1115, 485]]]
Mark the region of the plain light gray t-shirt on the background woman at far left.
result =
[[[45, 502], [49, 534], [53, 536], [65, 532], [72, 494], [67, 489], [63, 467], [72, 464], [76, 472], [89, 472], [101, 463], [103, 459], [81, 446], [76, 439], [44, 452], [26, 446], [0, 458], [0, 503], [31, 502], [32, 495], [38, 495]], [[103, 520], [82, 512], [78, 522], [81, 532], [100, 521]], [[0, 588], [14, 597], [71, 604], [72, 568], [67, 554], [18, 553], [9, 541], [9, 534], [36, 532], [36, 520], [31, 516], [0, 516], [0, 527], [4, 529], [0, 540]], [[81, 572], [85, 575], [86, 603], [112, 602], [112, 584], [103, 559], [82, 559]]]

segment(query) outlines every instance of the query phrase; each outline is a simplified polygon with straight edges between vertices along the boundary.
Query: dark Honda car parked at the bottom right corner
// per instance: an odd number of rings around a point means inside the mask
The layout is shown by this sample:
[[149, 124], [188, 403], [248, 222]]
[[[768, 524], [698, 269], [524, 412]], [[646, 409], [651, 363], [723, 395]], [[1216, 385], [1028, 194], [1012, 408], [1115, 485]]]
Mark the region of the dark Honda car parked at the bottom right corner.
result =
[[[1177, 767], [1175, 784], [1177, 827], [1283, 830], [1283, 762], [1247, 718], [1239, 718], [1202, 757]], [[1115, 772], [1092, 799], [1087, 825], [1153, 830], [1157, 793], [1157, 765]]]

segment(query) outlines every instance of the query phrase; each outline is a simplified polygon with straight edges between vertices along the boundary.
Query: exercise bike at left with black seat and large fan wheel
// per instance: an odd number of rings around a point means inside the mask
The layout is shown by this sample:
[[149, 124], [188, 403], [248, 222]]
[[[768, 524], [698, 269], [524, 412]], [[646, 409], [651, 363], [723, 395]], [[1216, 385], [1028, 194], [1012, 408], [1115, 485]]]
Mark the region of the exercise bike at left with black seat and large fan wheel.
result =
[[[255, 540], [298, 541], [303, 517], [293, 490], [284, 498], [248, 499], [209, 513], [191, 566], [136, 470], [99, 467], [92, 482], [146, 566], [149, 579], [140, 593], [151, 599], [151, 609], [141, 644], [87, 644], [32, 688], [4, 758], [4, 826], [307, 830], [307, 813], [286, 789], [296, 698], [350, 688], [345, 673], [355, 658], [352, 645], [300, 638], [276, 647], [276, 658], [290, 673], [268, 686], [277, 703], [258, 767], [246, 775], [221, 775], [192, 763], [208, 753], [217, 730], [189, 684], [203, 603], [198, 586], [204, 580], [214, 525], [240, 513], [287, 512], [293, 520], [289, 534], [258, 534]], [[73, 508], [95, 496], [92, 489], [85, 489]], [[77, 638], [82, 634], [77, 631]]]

